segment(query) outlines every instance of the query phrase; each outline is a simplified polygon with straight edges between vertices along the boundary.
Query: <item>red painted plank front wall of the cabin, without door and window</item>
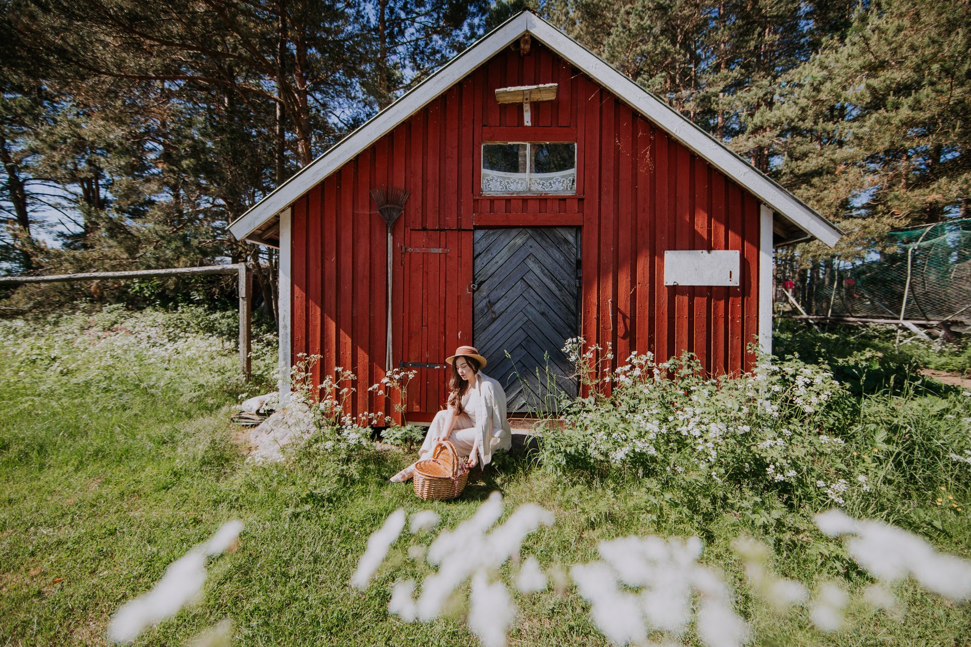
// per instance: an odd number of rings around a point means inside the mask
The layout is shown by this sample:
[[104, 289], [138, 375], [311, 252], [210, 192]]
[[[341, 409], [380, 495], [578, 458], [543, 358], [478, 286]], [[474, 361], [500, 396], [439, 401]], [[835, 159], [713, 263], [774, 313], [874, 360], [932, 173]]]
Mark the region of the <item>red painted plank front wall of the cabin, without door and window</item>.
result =
[[[557, 82], [552, 102], [500, 106], [493, 90]], [[575, 138], [575, 139], [574, 139]], [[483, 141], [576, 141], [576, 196], [481, 195]], [[615, 365], [683, 350], [714, 374], [751, 365], [757, 332], [758, 203], [613, 94], [534, 41], [505, 49], [293, 204], [292, 353], [320, 354], [320, 375], [358, 377], [353, 413], [390, 412], [368, 393], [385, 365], [385, 225], [368, 191], [411, 191], [395, 224], [393, 349], [440, 364], [472, 337], [472, 230], [582, 224], [581, 334], [615, 349]], [[402, 252], [448, 248], [448, 253]], [[665, 249], [738, 249], [739, 287], [665, 287]], [[445, 400], [445, 372], [419, 369], [409, 411]], [[420, 415], [411, 415], [420, 419]]]

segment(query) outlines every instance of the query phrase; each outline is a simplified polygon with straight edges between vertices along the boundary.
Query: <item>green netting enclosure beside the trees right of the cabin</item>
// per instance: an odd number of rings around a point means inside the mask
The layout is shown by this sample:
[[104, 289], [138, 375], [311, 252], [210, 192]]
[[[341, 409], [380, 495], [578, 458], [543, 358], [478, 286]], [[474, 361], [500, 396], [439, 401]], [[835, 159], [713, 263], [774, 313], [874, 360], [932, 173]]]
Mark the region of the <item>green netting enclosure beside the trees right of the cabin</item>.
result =
[[802, 278], [809, 314], [900, 319], [906, 293], [904, 320], [971, 321], [971, 219], [889, 232], [862, 259], [834, 257]]

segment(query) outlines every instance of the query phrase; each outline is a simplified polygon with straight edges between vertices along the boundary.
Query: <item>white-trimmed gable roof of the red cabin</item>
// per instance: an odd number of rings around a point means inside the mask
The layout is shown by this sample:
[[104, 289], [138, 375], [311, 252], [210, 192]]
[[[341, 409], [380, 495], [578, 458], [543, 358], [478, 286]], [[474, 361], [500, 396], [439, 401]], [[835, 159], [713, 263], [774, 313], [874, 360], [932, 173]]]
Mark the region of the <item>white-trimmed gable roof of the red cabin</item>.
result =
[[[419, 112], [494, 54], [518, 41], [525, 33], [538, 39], [593, 81], [597, 81], [616, 94], [621, 101], [653, 121], [670, 137], [705, 159], [726, 177], [744, 186], [761, 202], [772, 208], [776, 213], [776, 228], [785, 232], [783, 238], [786, 239], [786, 243], [817, 238], [822, 243], [833, 246], [840, 240], [842, 232], [816, 210], [808, 207], [772, 178], [755, 169], [686, 116], [670, 108], [664, 101], [620, 74], [606, 61], [530, 11], [523, 11], [506, 20], [435, 74], [421, 81], [385, 110], [377, 113], [293, 177], [287, 179], [256, 203], [251, 210], [237, 218], [229, 225], [229, 231], [237, 239], [267, 243], [262, 236], [273, 228], [273, 221], [293, 201], [340, 169], [361, 150], [377, 142], [412, 114]], [[793, 229], [798, 233], [793, 234]]]

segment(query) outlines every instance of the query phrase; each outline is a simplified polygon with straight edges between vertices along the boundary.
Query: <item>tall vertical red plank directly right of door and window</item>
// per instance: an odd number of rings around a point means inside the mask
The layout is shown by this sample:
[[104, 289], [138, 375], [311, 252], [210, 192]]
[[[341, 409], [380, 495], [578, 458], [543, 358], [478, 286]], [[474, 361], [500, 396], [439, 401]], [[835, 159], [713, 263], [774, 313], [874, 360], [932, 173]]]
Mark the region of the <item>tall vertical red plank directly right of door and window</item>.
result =
[[581, 330], [586, 344], [592, 346], [598, 342], [597, 315], [600, 303], [600, 200], [596, 190], [599, 186], [600, 166], [600, 87], [586, 82], [583, 77], [579, 79], [579, 83], [585, 98], [582, 110], [585, 128], [578, 132], [578, 137], [584, 138], [583, 176], [586, 186], [593, 189], [584, 201]]

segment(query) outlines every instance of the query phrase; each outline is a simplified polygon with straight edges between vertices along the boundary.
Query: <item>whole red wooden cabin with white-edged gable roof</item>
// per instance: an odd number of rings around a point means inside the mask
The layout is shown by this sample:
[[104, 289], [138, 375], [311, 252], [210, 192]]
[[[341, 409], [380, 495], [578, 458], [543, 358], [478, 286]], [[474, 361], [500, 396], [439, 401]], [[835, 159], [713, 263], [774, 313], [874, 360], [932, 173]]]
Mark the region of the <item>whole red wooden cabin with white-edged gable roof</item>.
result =
[[280, 247], [281, 366], [319, 354], [317, 383], [335, 367], [356, 373], [355, 413], [389, 409], [366, 390], [388, 359], [388, 245], [370, 195], [381, 187], [410, 191], [392, 230], [390, 366], [419, 373], [412, 420], [441, 408], [439, 367], [460, 344], [477, 345], [507, 390], [510, 366], [532, 372], [549, 351], [561, 367], [559, 347], [577, 336], [610, 344], [615, 366], [634, 350], [658, 361], [686, 350], [713, 374], [745, 371], [748, 344], [771, 348], [773, 246], [840, 237], [523, 12], [230, 226]]

